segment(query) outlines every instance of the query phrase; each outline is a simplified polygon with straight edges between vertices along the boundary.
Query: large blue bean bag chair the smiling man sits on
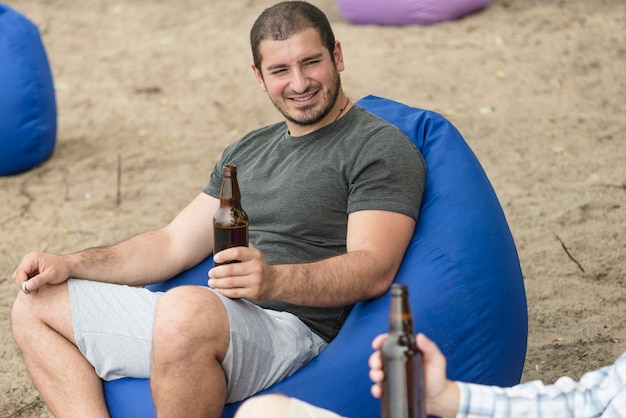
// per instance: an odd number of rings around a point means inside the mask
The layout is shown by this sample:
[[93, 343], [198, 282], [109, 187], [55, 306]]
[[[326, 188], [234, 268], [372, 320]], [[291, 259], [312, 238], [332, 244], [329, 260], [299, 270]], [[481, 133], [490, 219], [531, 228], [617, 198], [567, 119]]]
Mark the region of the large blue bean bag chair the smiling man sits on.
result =
[[[439, 344], [452, 379], [519, 383], [528, 331], [524, 283], [504, 213], [480, 163], [436, 113], [374, 96], [357, 103], [401, 128], [428, 166], [417, 229], [395, 279], [409, 286], [416, 332]], [[206, 285], [211, 266], [209, 258], [152, 289]], [[379, 417], [367, 360], [372, 339], [387, 331], [389, 304], [389, 293], [358, 303], [325, 351], [264, 392], [347, 417]], [[105, 395], [114, 418], [154, 416], [147, 379], [106, 382]], [[237, 407], [227, 405], [222, 416], [232, 417]]]

